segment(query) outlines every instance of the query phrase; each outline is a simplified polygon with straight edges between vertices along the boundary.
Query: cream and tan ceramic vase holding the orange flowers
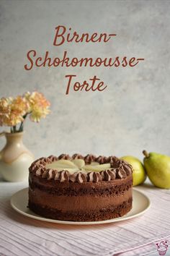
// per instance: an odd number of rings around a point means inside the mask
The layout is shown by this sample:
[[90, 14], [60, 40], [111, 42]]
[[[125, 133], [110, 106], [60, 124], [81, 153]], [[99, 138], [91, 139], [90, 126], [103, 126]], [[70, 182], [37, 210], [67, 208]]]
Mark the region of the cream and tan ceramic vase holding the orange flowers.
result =
[[28, 180], [28, 168], [34, 156], [22, 142], [23, 132], [7, 133], [6, 145], [0, 152], [0, 172], [7, 182]]

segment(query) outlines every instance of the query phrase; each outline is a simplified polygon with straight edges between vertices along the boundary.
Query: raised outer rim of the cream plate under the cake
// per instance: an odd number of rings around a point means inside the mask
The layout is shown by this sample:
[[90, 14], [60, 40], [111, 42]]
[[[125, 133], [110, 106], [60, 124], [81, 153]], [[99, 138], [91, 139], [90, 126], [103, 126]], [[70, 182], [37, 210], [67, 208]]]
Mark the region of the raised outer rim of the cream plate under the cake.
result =
[[[99, 225], [99, 224], [107, 224], [107, 223], [115, 223], [115, 222], [120, 222], [120, 221], [127, 221], [131, 218], [136, 218], [140, 215], [142, 215], [143, 213], [146, 213], [146, 211], [151, 207], [151, 200], [149, 199], [149, 197], [147, 195], [145, 195], [143, 192], [140, 192], [140, 190], [133, 188], [133, 191], [138, 192], [140, 195], [142, 195], [143, 197], [145, 197], [145, 199], [148, 201], [148, 205], [144, 210], [141, 210], [139, 213], [135, 213], [132, 216], [122, 216], [119, 218], [112, 218], [109, 220], [105, 220], [105, 221], [59, 221], [59, 220], [54, 220], [52, 218], [45, 218], [42, 216], [37, 215], [36, 213], [32, 212], [32, 210], [30, 210], [33, 214], [30, 213], [25, 213], [23, 210], [17, 208], [17, 206], [14, 204], [13, 200], [15, 199], [15, 197], [17, 197], [17, 194], [21, 193], [21, 192], [26, 192], [28, 191], [29, 187], [25, 187], [24, 189], [20, 189], [19, 191], [15, 192], [11, 199], [10, 199], [10, 204], [12, 206], [12, 208], [14, 210], [17, 211], [17, 213], [22, 214], [22, 216], [27, 216], [28, 218], [33, 218], [36, 219], [38, 221], [46, 221], [46, 222], [51, 222], [51, 223], [58, 223], [58, 224], [67, 224], [67, 225]], [[130, 212], [129, 212], [130, 213]]]

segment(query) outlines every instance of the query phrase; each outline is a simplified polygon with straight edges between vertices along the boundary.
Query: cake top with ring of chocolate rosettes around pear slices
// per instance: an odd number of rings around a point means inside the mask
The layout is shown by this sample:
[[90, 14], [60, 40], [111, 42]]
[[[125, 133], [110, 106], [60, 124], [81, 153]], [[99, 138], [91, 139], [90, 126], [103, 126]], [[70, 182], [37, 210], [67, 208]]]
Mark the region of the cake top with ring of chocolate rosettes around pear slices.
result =
[[30, 166], [30, 172], [43, 179], [59, 182], [102, 182], [125, 179], [132, 174], [129, 163], [115, 156], [62, 154], [58, 157], [37, 159]]

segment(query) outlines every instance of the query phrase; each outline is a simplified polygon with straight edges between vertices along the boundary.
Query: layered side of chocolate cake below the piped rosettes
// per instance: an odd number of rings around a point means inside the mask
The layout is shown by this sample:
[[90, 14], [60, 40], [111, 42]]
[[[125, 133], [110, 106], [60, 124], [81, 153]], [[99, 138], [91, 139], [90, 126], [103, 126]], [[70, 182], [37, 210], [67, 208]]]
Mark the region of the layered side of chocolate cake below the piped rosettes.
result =
[[30, 179], [29, 208], [58, 220], [99, 221], [120, 217], [132, 207], [132, 182], [132, 176], [83, 184], [35, 176]]

